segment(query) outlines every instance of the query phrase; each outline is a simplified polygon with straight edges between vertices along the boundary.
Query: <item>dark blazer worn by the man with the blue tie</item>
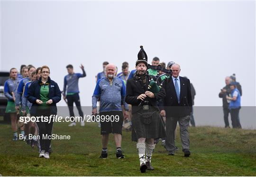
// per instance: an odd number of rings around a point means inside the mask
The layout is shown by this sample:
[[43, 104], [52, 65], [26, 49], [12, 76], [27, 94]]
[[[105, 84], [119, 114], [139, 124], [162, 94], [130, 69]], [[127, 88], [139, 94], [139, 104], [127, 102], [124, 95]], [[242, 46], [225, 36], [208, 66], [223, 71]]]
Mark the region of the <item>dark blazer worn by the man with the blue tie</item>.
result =
[[192, 111], [192, 96], [190, 80], [180, 76], [180, 103], [178, 102], [177, 94], [174, 87], [173, 78], [167, 78], [163, 84], [166, 96], [159, 103], [160, 110], [165, 110], [166, 118], [180, 118], [191, 115]]

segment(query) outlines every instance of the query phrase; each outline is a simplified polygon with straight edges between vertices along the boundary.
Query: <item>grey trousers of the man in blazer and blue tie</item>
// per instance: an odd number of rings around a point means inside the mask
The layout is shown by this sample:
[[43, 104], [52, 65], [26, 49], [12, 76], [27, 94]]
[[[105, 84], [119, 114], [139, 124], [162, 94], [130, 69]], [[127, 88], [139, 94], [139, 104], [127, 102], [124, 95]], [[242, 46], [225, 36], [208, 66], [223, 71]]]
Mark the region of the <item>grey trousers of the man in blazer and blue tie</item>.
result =
[[190, 116], [185, 116], [183, 118], [166, 118], [165, 127], [166, 127], [166, 142], [165, 147], [167, 151], [174, 152], [175, 150], [175, 136], [174, 131], [177, 126], [177, 122], [180, 125], [180, 136], [182, 141], [182, 150], [189, 150], [189, 126]]

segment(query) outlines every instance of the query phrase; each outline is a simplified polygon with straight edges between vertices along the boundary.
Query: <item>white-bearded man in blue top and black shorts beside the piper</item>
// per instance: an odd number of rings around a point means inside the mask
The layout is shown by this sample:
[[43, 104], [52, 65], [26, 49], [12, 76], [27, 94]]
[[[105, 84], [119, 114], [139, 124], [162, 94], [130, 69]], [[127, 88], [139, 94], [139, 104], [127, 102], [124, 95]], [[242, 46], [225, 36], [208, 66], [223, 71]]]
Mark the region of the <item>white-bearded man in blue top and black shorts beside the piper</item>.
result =
[[[106, 76], [101, 78], [95, 87], [92, 95], [92, 114], [97, 114], [97, 101], [100, 97], [100, 116], [101, 118], [101, 135], [102, 135], [102, 159], [107, 158], [107, 145], [109, 134], [114, 134], [117, 147], [116, 157], [118, 159], [125, 158], [121, 151], [122, 141], [122, 124], [123, 120], [128, 118], [128, 104], [125, 102], [125, 84], [122, 79], [114, 77], [116, 67], [113, 64], [106, 66]], [[122, 112], [121, 104], [124, 105], [125, 111]], [[110, 119], [116, 117], [117, 119]], [[107, 121], [107, 118], [110, 119]]]

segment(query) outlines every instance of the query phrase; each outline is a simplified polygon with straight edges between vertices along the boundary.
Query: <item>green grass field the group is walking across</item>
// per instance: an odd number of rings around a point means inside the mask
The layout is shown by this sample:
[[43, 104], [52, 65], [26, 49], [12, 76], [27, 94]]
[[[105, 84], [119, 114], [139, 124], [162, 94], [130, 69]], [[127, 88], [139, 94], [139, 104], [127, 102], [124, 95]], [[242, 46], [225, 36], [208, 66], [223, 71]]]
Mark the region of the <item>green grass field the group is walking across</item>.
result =
[[192, 155], [179, 150], [168, 156], [157, 144], [152, 158], [154, 171], [141, 174], [136, 143], [123, 132], [122, 150], [126, 159], [115, 158], [113, 135], [109, 157], [101, 153], [100, 128], [91, 123], [68, 127], [56, 123], [53, 133], [71, 135], [71, 140], [53, 140], [50, 159], [38, 158], [37, 148], [23, 141], [13, 142], [10, 125], [0, 124], [0, 174], [3, 176], [256, 176], [256, 130], [218, 127], [189, 127]]

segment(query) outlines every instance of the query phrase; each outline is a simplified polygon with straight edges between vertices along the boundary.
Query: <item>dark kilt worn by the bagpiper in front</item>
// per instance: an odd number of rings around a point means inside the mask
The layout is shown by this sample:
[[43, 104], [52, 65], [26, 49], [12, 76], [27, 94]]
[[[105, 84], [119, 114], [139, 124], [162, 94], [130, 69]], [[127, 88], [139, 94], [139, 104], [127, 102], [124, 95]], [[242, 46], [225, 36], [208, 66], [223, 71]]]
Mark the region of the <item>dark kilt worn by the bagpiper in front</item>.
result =
[[[154, 109], [151, 109], [154, 112]], [[150, 124], [145, 124], [142, 121], [140, 110], [138, 113], [132, 114], [132, 141], [137, 142], [138, 138], [164, 138], [166, 137], [165, 126], [159, 115], [159, 111], [155, 111], [152, 114], [152, 122]]]

